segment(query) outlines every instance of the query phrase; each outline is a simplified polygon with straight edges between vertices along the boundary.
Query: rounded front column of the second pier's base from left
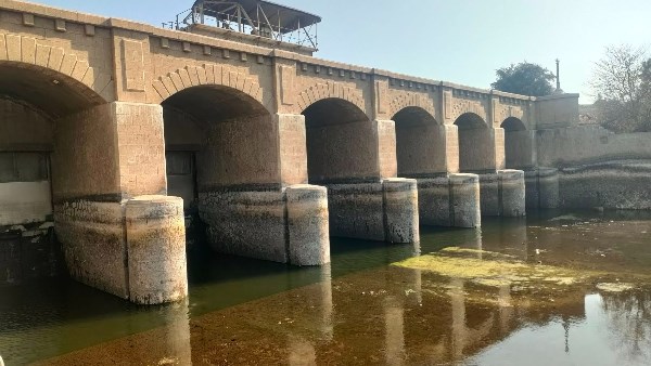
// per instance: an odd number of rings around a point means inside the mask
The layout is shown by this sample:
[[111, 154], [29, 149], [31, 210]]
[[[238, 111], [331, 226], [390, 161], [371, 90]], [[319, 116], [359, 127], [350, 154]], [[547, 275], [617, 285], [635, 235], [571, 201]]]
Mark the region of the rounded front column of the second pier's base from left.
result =
[[328, 191], [321, 186], [299, 184], [289, 186], [285, 195], [290, 263], [330, 263]]

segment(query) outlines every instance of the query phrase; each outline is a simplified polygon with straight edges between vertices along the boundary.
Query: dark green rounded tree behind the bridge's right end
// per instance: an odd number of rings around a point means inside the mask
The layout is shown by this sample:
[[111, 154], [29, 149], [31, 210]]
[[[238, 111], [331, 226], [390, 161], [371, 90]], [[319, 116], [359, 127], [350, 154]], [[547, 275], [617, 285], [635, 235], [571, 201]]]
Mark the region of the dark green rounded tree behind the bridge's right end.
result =
[[497, 80], [490, 84], [493, 89], [508, 93], [542, 96], [553, 92], [551, 82], [556, 76], [540, 65], [522, 62], [511, 64], [495, 71]]

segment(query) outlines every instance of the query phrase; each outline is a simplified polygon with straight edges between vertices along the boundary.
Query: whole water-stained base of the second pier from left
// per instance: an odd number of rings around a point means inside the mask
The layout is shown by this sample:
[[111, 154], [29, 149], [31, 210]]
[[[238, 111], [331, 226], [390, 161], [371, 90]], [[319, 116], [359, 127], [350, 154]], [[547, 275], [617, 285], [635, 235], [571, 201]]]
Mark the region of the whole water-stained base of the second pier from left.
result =
[[203, 192], [199, 213], [216, 251], [295, 265], [330, 262], [324, 187]]

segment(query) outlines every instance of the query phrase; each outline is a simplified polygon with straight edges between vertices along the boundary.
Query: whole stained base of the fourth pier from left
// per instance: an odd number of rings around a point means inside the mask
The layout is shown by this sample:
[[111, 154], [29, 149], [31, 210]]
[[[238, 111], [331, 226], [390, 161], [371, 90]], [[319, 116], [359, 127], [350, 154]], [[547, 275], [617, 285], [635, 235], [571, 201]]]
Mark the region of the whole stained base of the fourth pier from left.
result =
[[423, 225], [480, 226], [478, 175], [449, 174], [418, 179], [418, 207]]

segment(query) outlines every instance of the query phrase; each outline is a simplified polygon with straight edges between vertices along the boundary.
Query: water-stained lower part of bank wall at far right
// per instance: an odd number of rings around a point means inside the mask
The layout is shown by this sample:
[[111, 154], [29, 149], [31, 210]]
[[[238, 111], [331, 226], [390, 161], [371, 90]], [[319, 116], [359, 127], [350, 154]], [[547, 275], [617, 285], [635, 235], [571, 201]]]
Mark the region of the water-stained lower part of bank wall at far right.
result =
[[651, 210], [651, 161], [621, 160], [560, 171], [563, 208]]

